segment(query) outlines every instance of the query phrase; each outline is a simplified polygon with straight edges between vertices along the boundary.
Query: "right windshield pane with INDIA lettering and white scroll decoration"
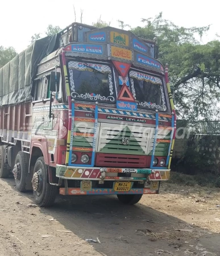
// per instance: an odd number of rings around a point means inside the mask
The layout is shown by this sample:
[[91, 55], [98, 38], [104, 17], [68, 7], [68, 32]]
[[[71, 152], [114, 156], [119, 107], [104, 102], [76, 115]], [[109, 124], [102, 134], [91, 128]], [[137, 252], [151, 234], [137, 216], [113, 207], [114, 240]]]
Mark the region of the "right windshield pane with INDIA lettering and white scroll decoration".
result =
[[131, 91], [138, 107], [144, 109], [167, 110], [163, 81], [156, 76], [130, 71]]

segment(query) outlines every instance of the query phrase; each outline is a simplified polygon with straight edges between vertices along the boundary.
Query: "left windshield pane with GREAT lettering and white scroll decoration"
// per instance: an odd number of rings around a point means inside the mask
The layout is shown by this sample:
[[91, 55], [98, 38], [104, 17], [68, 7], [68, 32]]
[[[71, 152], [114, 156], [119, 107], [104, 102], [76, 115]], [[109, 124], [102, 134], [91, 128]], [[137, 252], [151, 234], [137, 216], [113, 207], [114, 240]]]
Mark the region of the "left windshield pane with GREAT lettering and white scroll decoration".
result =
[[71, 97], [80, 101], [115, 102], [115, 87], [109, 65], [69, 61]]

